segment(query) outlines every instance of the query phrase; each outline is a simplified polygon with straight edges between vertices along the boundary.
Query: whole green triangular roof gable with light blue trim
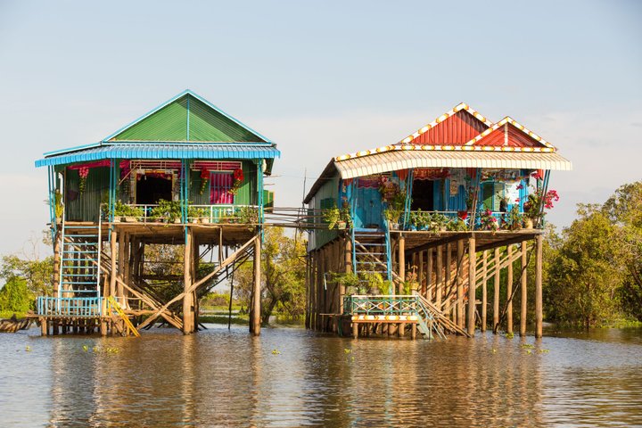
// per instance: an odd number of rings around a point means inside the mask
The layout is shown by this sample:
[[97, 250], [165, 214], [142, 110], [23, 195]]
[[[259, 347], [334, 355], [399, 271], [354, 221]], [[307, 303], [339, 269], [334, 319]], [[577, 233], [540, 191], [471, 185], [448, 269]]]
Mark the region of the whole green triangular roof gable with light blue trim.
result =
[[105, 142], [266, 143], [269, 140], [190, 90], [121, 128]]

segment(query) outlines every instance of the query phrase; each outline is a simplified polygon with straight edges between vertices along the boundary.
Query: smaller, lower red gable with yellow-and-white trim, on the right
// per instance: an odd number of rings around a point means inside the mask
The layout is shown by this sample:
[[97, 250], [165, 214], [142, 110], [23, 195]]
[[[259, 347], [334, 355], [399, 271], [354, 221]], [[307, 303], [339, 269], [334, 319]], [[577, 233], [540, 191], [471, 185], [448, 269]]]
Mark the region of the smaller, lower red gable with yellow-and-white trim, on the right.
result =
[[538, 136], [509, 116], [501, 119], [480, 135], [471, 138], [465, 145], [481, 147], [547, 148], [556, 150], [553, 144]]

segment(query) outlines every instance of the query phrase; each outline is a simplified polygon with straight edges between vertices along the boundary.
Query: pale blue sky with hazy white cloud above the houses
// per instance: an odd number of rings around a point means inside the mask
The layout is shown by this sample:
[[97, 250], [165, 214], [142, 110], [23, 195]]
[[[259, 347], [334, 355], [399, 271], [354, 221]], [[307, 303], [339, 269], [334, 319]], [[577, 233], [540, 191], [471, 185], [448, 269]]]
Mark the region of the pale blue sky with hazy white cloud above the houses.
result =
[[45, 226], [42, 152], [88, 144], [185, 88], [279, 144], [276, 204], [330, 157], [391, 144], [459, 102], [574, 164], [570, 224], [638, 180], [642, 3], [0, 0], [0, 253]]

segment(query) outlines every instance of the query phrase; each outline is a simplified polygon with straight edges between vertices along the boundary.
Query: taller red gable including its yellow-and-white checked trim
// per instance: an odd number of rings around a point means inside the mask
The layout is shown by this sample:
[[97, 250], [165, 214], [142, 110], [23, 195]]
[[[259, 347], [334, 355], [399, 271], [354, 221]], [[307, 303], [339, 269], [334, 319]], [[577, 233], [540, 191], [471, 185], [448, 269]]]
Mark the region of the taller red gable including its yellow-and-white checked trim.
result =
[[489, 119], [468, 104], [459, 103], [398, 144], [463, 145], [491, 125]]

